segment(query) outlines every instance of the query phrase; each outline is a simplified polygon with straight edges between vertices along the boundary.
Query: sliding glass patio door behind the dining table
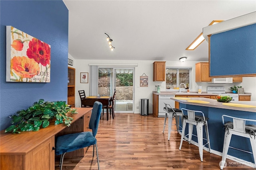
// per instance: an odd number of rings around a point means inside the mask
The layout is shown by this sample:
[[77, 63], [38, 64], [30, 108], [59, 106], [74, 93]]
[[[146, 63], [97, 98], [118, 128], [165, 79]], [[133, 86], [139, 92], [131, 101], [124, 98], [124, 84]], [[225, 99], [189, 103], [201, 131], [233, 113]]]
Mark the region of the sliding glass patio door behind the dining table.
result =
[[116, 90], [115, 113], [134, 112], [134, 68], [99, 67], [98, 94], [112, 96]]

